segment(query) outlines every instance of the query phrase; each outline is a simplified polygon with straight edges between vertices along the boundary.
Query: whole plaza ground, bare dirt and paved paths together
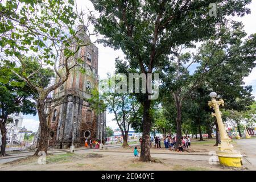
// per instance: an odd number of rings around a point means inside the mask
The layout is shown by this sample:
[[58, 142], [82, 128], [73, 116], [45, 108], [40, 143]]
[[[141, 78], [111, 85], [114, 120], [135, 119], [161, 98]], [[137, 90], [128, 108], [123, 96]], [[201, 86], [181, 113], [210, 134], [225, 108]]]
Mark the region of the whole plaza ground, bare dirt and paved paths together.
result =
[[[192, 150], [189, 152], [174, 152], [165, 148], [151, 148], [151, 156], [155, 163], [139, 162], [133, 156], [133, 148], [105, 147], [104, 150], [77, 150], [75, 154], [55, 153], [46, 157], [46, 164], [38, 164], [38, 156], [20, 158], [7, 163], [1, 163], [0, 170], [255, 170], [256, 139], [233, 140], [236, 150], [240, 150], [243, 158], [243, 168], [226, 168], [218, 164], [209, 164], [210, 151], [217, 151], [215, 140], [205, 139], [198, 142], [192, 140]], [[164, 146], [162, 146], [164, 147]], [[139, 148], [139, 146], [138, 146]]]

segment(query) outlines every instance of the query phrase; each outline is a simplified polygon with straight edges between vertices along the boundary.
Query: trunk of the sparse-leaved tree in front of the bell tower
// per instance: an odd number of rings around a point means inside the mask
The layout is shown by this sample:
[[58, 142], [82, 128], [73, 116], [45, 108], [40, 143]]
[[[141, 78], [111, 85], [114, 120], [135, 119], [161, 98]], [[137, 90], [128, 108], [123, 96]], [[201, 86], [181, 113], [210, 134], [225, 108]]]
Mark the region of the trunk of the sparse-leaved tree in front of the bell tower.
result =
[[48, 139], [49, 139], [49, 127], [47, 125], [46, 114], [44, 113], [45, 104], [44, 101], [38, 101], [38, 117], [40, 124], [40, 135], [38, 149], [34, 155], [38, 155], [40, 151], [44, 151], [47, 154]]

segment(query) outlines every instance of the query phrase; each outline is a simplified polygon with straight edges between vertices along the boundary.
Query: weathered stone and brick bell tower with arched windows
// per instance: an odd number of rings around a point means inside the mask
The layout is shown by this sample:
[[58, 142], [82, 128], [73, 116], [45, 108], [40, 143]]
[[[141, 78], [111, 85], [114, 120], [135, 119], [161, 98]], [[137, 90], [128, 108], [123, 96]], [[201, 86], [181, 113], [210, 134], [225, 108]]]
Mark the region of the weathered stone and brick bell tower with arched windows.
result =
[[[85, 28], [78, 26], [78, 36], [84, 42], [90, 42]], [[75, 51], [76, 45], [72, 49]], [[65, 57], [60, 57], [61, 65]], [[92, 89], [98, 86], [98, 48], [94, 44], [81, 47], [75, 57], [80, 57], [83, 63], [72, 69], [68, 80], [53, 94], [53, 99], [67, 96], [50, 117], [49, 146], [56, 148], [68, 148], [72, 139], [77, 147], [84, 146], [86, 138], [101, 140], [101, 136], [105, 136], [106, 111], [97, 114], [84, 99], [92, 97]], [[80, 71], [81, 67], [85, 73]]]

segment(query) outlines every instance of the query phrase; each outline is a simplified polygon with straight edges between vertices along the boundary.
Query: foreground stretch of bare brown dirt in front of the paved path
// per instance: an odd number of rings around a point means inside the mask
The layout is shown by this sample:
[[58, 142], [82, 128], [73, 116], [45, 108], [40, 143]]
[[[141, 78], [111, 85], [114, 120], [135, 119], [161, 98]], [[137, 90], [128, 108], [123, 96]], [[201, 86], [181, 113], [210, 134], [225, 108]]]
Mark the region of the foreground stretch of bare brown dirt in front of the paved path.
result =
[[229, 170], [220, 165], [209, 165], [208, 162], [177, 160], [177, 159], [156, 159], [156, 163], [139, 162], [139, 158], [133, 156], [110, 156], [100, 154], [61, 154], [49, 155], [46, 164], [38, 164], [38, 157], [28, 157], [0, 165], [1, 171], [25, 170], [25, 171], [59, 171], [59, 170]]

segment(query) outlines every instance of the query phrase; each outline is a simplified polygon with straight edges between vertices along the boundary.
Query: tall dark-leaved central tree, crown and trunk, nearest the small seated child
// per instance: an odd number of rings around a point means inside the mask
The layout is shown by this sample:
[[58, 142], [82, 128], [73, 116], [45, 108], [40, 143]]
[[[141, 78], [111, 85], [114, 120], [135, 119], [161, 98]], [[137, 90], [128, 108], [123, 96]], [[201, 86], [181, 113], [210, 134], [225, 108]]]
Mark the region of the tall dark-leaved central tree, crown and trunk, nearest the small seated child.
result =
[[[154, 73], [155, 68], [168, 64], [173, 48], [214, 35], [216, 24], [225, 22], [227, 15], [244, 15], [251, 1], [97, 1], [100, 13], [94, 25], [104, 35], [102, 42], [121, 48], [130, 67], [138, 73]], [[209, 4], [217, 4], [217, 15], [210, 17]], [[150, 92], [139, 100], [143, 106], [143, 137], [140, 159], [150, 161]], [[180, 107], [179, 107], [180, 108]], [[177, 130], [178, 139], [181, 137]]]

